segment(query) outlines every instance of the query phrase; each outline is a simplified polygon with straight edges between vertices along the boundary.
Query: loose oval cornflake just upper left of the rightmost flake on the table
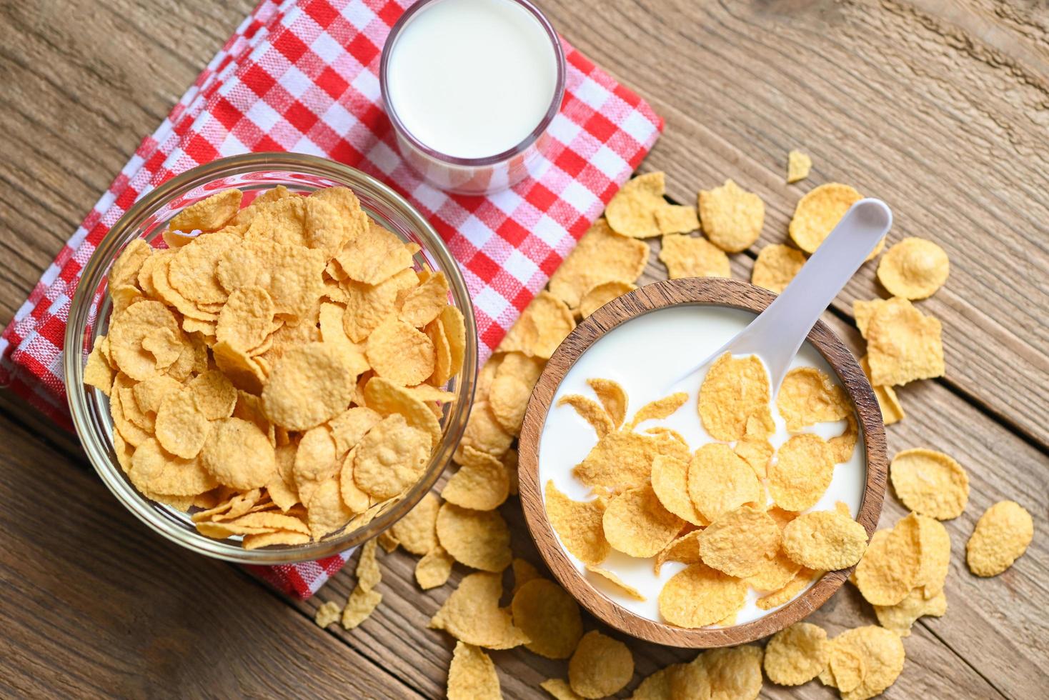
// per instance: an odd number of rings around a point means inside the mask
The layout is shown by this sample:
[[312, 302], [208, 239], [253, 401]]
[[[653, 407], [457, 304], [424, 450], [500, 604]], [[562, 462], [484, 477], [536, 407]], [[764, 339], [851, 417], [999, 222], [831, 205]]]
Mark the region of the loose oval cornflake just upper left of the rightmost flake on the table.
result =
[[918, 447], [897, 453], [889, 476], [903, 505], [922, 516], [958, 518], [969, 502], [968, 475], [942, 452]]

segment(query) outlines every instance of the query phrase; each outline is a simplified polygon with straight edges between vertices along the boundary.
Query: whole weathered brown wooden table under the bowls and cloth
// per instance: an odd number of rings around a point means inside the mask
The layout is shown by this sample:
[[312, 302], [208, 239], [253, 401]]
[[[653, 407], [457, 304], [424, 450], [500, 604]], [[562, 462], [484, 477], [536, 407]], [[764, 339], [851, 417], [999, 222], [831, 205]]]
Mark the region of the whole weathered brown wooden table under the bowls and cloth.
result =
[[[0, 2], [0, 323], [197, 71], [249, 0]], [[884, 198], [894, 239], [950, 255], [922, 304], [943, 321], [947, 376], [900, 394], [890, 452], [929, 446], [968, 469], [968, 508], [947, 523], [949, 609], [905, 640], [892, 698], [1034, 698], [1049, 684], [1049, 7], [1034, 0], [545, 0], [565, 37], [666, 117], [643, 165], [669, 195], [733, 177], [767, 203], [782, 241], [794, 202], [840, 180]], [[787, 151], [815, 161], [784, 183]], [[655, 261], [646, 279], [665, 277]], [[879, 294], [865, 266], [827, 313], [857, 340], [853, 299]], [[451, 640], [426, 622], [451, 587], [421, 593], [414, 557], [382, 556], [380, 609], [321, 630], [351, 567], [315, 599], [284, 598], [235, 566], [142, 527], [95, 478], [74, 438], [7, 393], [0, 402], [0, 695], [436, 697]], [[1034, 543], [1005, 574], [971, 576], [964, 546], [991, 503], [1015, 499]], [[516, 503], [515, 548], [534, 557]], [[881, 524], [903, 512], [892, 497]], [[535, 561], [535, 560], [533, 560]], [[456, 570], [457, 579], [463, 571]], [[845, 587], [813, 617], [831, 633], [873, 615]], [[593, 625], [593, 620], [587, 622]], [[338, 626], [335, 626], [338, 627]], [[631, 642], [631, 687], [694, 653]], [[495, 652], [507, 697], [536, 697], [565, 664]], [[765, 697], [833, 697], [818, 683]]]

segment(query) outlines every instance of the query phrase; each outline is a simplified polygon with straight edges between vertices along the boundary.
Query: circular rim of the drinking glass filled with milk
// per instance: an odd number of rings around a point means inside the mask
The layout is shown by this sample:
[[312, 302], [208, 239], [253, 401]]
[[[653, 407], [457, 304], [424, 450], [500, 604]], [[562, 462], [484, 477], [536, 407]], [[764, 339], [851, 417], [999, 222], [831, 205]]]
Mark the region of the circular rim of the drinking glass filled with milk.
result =
[[441, 151], [427, 146], [420, 140], [407, 126], [405, 126], [404, 122], [398, 115], [397, 110], [393, 108], [393, 103], [389, 99], [388, 88], [390, 51], [392, 46], [397, 43], [397, 38], [416, 14], [435, 2], [443, 2], [443, 0], [419, 0], [419, 2], [413, 4], [405, 10], [403, 15], [401, 15], [398, 21], [394, 22], [393, 26], [390, 28], [390, 32], [386, 36], [386, 42], [383, 44], [382, 56], [379, 61], [379, 91], [382, 95], [383, 109], [386, 110], [386, 115], [389, 117], [390, 124], [393, 125], [393, 130], [398, 133], [398, 135], [407, 140], [412, 148], [426, 154], [434, 160], [462, 168], [486, 168], [505, 162], [530, 149], [539, 139], [539, 137], [547, 132], [547, 129], [550, 128], [550, 123], [554, 121], [554, 116], [556, 116], [561, 109], [561, 102], [564, 100], [564, 84], [568, 70], [564, 63], [564, 49], [561, 46], [561, 40], [557, 35], [557, 30], [554, 29], [554, 25], [550, 23], [547, 16], [543, 15], [542, 12], [532, 2], [530, 2], [530, 0], [502, 1], [520, 5], [526, 12], [532, 15], [536, 21], [539, 22], [539, 26], [542, 27], [542, 30], [547, 34], [547, 38], [550, 40], [550, 43], [554, 48], [557, 75], [554, 84], [554, 95], [551, 99], [550, 106], [547, 108], [547, 112], [543, 114], [542, 118], [539, 119], [539, 124], [536, 125], [535, 129], [533, 129], [516, 146], [494, 155], [487, 155], [479, 158], [464, 158], [461, 156], [442, 153]]

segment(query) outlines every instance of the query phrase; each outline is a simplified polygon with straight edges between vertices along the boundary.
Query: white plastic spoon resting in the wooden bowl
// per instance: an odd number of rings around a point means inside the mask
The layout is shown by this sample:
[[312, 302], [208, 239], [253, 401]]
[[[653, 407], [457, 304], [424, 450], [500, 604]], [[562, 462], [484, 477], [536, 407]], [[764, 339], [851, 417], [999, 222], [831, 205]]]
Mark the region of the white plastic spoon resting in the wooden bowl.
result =
[[819, 314], [892, 225], [893, 213], [880, 199], [861, 199], [853, 204], [783, 293], [718, 352], [682, 375], [675, 387], [726, 352], [753, 354], [768, 368], [774, 397]]

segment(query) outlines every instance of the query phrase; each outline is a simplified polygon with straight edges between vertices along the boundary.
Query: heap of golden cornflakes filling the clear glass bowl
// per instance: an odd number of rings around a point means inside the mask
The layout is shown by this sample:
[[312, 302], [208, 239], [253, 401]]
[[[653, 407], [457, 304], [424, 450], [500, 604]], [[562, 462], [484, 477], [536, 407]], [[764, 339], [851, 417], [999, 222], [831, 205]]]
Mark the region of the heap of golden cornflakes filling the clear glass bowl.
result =
[[[242, 546], [363, 525], [423, 475], [466, 345], [442, 272], [345, 188], [226, 190], [113, 263], [85, 381], [147, 498]], [[378, 604], [369, 587], [350, 603]], [[348, 609], [347, 609], [348, 610]], [[344, 624], [347, 618], [344, 617]]]

